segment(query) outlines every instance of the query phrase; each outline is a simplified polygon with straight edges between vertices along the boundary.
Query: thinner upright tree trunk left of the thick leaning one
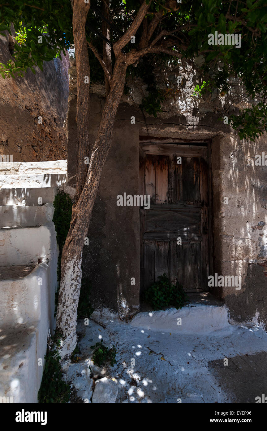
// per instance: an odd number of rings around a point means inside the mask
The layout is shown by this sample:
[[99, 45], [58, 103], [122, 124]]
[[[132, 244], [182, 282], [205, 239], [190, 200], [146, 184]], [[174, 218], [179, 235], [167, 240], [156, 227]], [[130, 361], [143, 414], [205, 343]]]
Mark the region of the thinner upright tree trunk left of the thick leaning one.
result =
[[[76, 154], [76, 194], [75, 203], [79, 199], [81, 191], [86, 181], [87, 165], [84, 157], [89, 153], [89, 108], [90, 108], [90, 65], [88, 57], [88, 47], [86, 41], [85, 24], [90, 9], [90, 1], [71, 0], [72, 6], [72, 26], [75, 45], [76, 71], [77, 71], [77, 103], [76, 103], [76, 122], [77, 122], [77, 154]], [[88, 77], [88, 78], [87, 78]], [[72, 218], [74, 213], [72, 213]], [[67, 243], [68, 240], [68, 243]], [[68, 304], [68, 312], [71, 316], [77, 316], [77, 300], [72, 301], [72, 295], [78, 295], [75, 290], [71, 292], [68, 286], [80, 286], [81, 283], [81, 251], [77, 247], [77, 253], [73, 252], [73, 247], [66, 247], [71, 243], [71, 229], [68, 232], [67, 240], [61, 254], [61, 280], [58, 297], [57, 309], [57, 330], [62, 333], [63, 325], [66, 326], [65, 333], [71, 334], [66, 337], [64, 344], [68, 350], [73, 351], [77, 343], [76, 332], [73, 336], [71, 322], [61, 318], [64, 305]], [[63, 294], [64, 292], [64, 294]], [[59, 300], [59, 298], [63, 299]], [[75, 314], [76, 313], [76, 314]], [[60, 323], [59, 323], [60, 322]], [[63, 352], [63, 351], [62, 351]]]

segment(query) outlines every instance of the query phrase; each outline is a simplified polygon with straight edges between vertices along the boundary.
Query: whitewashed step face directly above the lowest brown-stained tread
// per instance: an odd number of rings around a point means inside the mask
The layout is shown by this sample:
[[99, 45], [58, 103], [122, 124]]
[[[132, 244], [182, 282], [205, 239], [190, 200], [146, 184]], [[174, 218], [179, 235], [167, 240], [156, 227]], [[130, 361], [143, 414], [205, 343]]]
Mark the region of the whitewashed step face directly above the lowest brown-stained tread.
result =
[[[3, 266], [36, 264], [57, 254], [55, 225], [0, 229], [0, 262]], [[55, 262], [57, 263], [57, 261]]]

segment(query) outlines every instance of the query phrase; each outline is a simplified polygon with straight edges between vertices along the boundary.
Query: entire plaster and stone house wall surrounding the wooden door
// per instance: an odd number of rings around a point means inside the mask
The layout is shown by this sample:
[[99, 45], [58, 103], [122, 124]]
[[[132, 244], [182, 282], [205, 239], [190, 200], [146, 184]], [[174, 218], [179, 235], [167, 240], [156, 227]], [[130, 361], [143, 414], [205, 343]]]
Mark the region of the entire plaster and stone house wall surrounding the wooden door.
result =
[[[172, 74], [171, 79], [168, 74]], [[159, 86], [166, 87], [166, 76], [169, 82], [175, 83], [178, 74], [181, 75], [181, 70], [178, 72], [177, 69], [161, 75]], [[123, 96], [117, 112], [113, 144], [103, 169], [89, 229], [90, 244], [83, 251], [83, 277], [92, 281], [96, 308], [107, 306], [122, 311], [117, 300], [123, 286], [121, 297], [128, 300], [130, 311], [135, 310], [139, 275], [135, 286], [129, 284], [129, 277], [138, 274], [140, 267], [139, 211], [134, 207], [117, 207], [116, 196], [123, 191], [130, 194], [137, 191], [139, 134], [188, 142], [210, 140], [214, 272], [241, 275], [242, 278], [241, 290], [218, 287], [213, 292], [224, 299], [234, 321], [253, 320], [266, 327], [267, 168], [255, 166], [255, 155], [265, 150], [267, 136], [255, 143], [240, 142], [236, 132], [220, 120], [222, 116], [236, 112], [236, 108], [249, 106], [237, 82], [231, 94], [221, 95], [215, 91], [199, 100], [192, 97], [196, 83], [199, 78], [188, 66], [187, 78], [175, 99], [166, 98], [163, 112], [157, 119], [147, 114], [144, 119], [138, 104], [146, 94], [146, 86], [140, 80], [132, 84], [127, 82], [130, 87], [132, 85], [132, 91], [129, 96]], [[91, 89], [95, 93], [91, 108], [92, 145], [104, 99], [100, 84], [93, 84]], [[135, 116], [135, 125], [130, 124], [132, 116]], [[68, 145], [73, 154], [75, 143]], [[71, 163], [68, 169], [73, 169]], [[224, 197], [228, 197], [228, 205], [224, 205]], [[131, 235], [134, 240], [127, 242]]]

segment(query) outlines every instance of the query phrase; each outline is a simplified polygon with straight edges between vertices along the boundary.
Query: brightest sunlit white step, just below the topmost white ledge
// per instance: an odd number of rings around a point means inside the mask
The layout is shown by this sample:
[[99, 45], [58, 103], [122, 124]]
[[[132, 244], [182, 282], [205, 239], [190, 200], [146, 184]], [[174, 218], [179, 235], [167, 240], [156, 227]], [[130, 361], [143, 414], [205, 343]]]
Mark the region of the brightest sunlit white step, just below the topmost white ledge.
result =
[[67, 173], [39, 175], [0, 175], [0, 188], [59, 187], [67, 180]]

